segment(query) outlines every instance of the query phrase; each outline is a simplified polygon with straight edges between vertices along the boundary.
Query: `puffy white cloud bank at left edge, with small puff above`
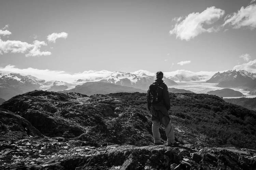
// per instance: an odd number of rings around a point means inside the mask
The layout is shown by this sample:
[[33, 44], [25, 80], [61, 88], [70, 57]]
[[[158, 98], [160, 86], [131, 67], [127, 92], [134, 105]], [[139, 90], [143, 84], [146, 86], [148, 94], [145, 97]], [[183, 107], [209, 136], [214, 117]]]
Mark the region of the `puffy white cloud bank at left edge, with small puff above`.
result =
[[[8, 30], [0, 30], [0, 35], [10, 35], [11, 32]], [[46, 46], [47, 44], [44, 41], [34, 41], [33, 44], [29, 44], [17, 40], [7, 40], [3, 41], [0, 37], [0, 54], [3, 53], [25, 53], [28, 51], [26, 56], [42, 56], [42, 55], [51, 55], [51, 52], [40, 51], [41, 46]]]

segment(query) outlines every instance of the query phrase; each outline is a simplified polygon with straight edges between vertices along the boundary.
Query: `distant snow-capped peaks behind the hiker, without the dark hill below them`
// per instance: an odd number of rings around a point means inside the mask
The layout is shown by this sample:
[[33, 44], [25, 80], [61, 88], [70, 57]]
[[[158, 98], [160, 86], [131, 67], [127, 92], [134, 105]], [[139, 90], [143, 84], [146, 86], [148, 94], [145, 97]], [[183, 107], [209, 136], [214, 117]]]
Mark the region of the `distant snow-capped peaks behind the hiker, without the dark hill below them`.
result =
[[[73, 80], [71, 82], [64, 81], [46, 81], [38, 79], [32, 75], [22, 75], [18, 73], [0, 73], [0, 97], [8, 100], [19, 94], [23, 94], [32, 90], [48, 90], [61, 91], [75, 88], [86, 82], [105, 82], [113, 83], [121, 86], [133, 87], [136, 89], [147, 90], [148, 86], [156, 79], [154, 73], [145, 74], [144, 72], [125, 73], [125, 72], [109, 72], [102, 70], [93, 72], [85, 79]], [[163, 81], [167, 86], [176, 85], [177, 83], [163, 77]], [[114, 86], [113, 86], [114, 87]]]

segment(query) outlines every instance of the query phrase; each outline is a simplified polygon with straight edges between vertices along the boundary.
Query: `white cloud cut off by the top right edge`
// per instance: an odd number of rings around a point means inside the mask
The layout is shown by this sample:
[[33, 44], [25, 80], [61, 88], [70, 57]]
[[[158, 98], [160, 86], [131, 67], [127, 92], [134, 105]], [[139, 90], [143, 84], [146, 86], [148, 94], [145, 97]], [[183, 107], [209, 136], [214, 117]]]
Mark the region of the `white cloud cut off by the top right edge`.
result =
[[[255, 0], [251, 3], [256, 2]], [[237, 13], [229, 14], [225, 17], [225, 25], [230, 25], [233, 29], [248, 28], [256, 29], [256, 3], [241, 7]]]

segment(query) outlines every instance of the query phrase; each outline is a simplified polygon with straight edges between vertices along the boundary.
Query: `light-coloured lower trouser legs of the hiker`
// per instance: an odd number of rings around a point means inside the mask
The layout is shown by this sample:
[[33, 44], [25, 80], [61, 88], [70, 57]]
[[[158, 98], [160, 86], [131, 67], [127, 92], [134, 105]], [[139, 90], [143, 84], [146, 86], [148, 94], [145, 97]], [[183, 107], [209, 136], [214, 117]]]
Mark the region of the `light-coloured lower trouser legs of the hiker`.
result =
[[[160, 122], [158, 120], [153, 120], [152, 123], [153, 123], [152, 124], [152, 133], [154, 136], [154, 143], [159, 143], [160, 142], [160, 132], [159, 132]], [[169, 121], [167, 127], [165, 128], [165, 133], [167, 136], [167, 145], [171, 145], [171, 144], [175, 143], [174, 131], [172, 128], [171, 120]]]

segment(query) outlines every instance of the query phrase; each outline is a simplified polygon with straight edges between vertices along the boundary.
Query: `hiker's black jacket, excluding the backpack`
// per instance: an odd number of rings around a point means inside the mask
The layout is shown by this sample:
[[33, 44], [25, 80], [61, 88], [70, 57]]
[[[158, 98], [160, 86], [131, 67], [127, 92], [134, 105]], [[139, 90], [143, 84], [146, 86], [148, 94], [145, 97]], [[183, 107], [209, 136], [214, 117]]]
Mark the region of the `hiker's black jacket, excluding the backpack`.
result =
[[163, 81], [161, 79], [156, 79], [154, 82], [154, 84], [161, 84], [159, 88], [160, 89], [160, 93], [162, 94], [162, 100], [157, 103], [157, 104], [151, 104], [149, 102], [149, 100], [147, 100], [147, 108], [150, 111], [150, 106], [165, 106], [167, 108], [167, 110], [169, 111], [171, 108], [171, 104], [170, 104], [170, 98], [169, 98], [169, 91], [168, 91], [168, 87], [166, 84], [163, 83]]

